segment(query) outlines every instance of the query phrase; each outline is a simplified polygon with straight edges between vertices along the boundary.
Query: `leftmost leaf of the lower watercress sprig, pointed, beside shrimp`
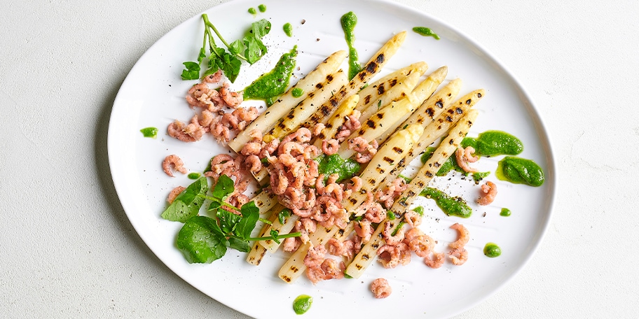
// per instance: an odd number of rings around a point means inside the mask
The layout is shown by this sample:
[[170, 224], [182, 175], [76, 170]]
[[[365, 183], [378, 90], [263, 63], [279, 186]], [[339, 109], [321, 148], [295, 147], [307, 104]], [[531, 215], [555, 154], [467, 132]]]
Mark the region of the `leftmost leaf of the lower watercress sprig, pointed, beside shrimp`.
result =
[[205, 177], [200, 177], [188, 185], [162, 213], [162, 218], [174, 222], [186, 222], [198, 215], [204, 198], [198, 195], [206, 194], [209, 183]]

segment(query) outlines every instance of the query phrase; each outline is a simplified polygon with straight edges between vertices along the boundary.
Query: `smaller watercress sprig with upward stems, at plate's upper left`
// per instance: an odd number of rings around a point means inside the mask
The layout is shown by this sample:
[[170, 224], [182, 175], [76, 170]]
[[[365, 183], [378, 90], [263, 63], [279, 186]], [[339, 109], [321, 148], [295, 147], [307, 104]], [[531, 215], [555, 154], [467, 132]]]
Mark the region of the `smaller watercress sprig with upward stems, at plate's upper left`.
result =
[[[184, 80], [197, 80], [200, 78], [200, 64], [207, 58], [208, 68], [202, 76], [209, 76], [218, 70], [222, 70], [224, 75], [235, 82], [240, 74], [240, 66], [242, 60], [249, 64], [254, 64], [266, 54], [266, 45], [261, 41], [270, 31], [270, 22], [266, 19], [253, 22], [251, 29], [241, 40], [231, 43], [226, 42], [217, 27], [210, 22], [206, 13], [202, 14], [204, 21], [204, 38], [202, 39], [202, 48], [198, 54], [198, 62], [184, 62], [185, 69], [182, 71], [181, 78]], [[224, 43], [228, 52], [224, 48], [220, 48], [215, 43], [214, 34]], [[207, 48], [209, 55], [207, 56]]]

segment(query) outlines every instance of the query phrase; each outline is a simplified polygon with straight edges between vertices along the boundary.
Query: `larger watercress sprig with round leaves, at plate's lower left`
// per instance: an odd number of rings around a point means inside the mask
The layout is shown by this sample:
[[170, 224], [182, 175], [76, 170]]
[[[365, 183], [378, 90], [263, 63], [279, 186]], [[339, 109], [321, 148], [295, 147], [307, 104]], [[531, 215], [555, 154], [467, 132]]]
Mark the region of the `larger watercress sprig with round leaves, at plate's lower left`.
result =
[[[235, 191], [231, 178], [222, 175], [218, 178], [211, 193], [207, 196], [207, 178], [201, 177], [182, 191], [162, 213], [167, 220], [184, 222], [177, 234], [177, 248], [191, 263], [210, 263], [226, 255], [227, 248], [248, 253], [249, 241], [273, 240], [300, 236], [299, 232], [279, 234], [272, 230], [270, 236], [252, 237], [260, 218], [259, 208], [253, 201], [235, 207], [226, 203], [226, 199]], [[211, 201], [207, 212], [214, 218], [198, 215], [203, 201]], [[239, 214], [235, 213], [239, 212]]]

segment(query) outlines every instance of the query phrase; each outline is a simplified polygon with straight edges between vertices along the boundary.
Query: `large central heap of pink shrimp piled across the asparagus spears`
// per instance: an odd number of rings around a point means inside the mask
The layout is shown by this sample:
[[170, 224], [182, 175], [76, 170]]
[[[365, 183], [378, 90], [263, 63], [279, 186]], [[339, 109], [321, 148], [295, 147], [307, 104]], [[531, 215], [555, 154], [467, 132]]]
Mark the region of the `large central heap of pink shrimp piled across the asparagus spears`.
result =
[[[338, 134], [339, 132], [348, 133], [351, 129], [359, 127], [356, 118], [351, 118], [346, 123], [339, 128]], [[338, 174], [325, 176], [320, 173], [314, 159], [322, 154], [322, 150], [310, 142], [317, 138], [321, 128], [320, 125], [312, 130], [302, 127], [285, 136], [281, 141], [273, 139], [269, 143], [262, 141], [260, 132], [251, 132], [252, 140], [240, 150], [240, 155], [238, 155], [245, 156], [245, 166], [242, 167], [245, 171], [256, 173], [263, 169], [263, 165], [266, 165], [270, 178], [264, 190], [277, 195], [280, 204], [289, 208], [299, 217], [294, 225], [294, 231], [300, 232], [301, 236], [286, 239], [283, 244], [284, 251], [293, 252], [302, 243], [308, 242], [309, 235], [315, 232], [317, 225], [322, 225], [325, 228], [337, 226], [344, 229], [348, 225], [349, 215], [343, 207], [342, 201], [350, 197], [352, 192], [359, 192], [362, 187], [362, 180], [357, 176], [350, 178], [346, 183], [338, 183]], [[346, 136], [347, 134], [341, 135]], [[324, 140], [323, 142], [323, 148], [326, 148], [328, 141]], [[266, 159], [266, 163], [263, 164], [261, 159]], [[374, 202], [373, 193], [368, 195], [369, 200], [360, 210], [364, 215], [362, 222], [368, 222], [369, 225], [366, 229], [368, 235], [365, 236], [370, 238], [371, 222], [383, 220], [385, 210], [380, 204]], [[361, 243], [361, 238], [356, 236], [355, 239], [339, 243], [341, 246], [347, 246], [347, 249], [336, 247], [330, 251], [338, 251], [338, 255], [352, 257], [357, 253], [355, 248], [359, 248]], [[326, 278], [326, 276], [319, 276], [320, 271], [316, 269], [321, 266], [322, 262], [307, 265], [308, 269], [311, 269], [309, 276]], [[327, 261], [327, 264], [329, 263], [331, 262]], [[327, 272], [327, 264], [324, 264], [324, 273]], [[335, 265], [331, 264], [331, 269], [335, 269]]]

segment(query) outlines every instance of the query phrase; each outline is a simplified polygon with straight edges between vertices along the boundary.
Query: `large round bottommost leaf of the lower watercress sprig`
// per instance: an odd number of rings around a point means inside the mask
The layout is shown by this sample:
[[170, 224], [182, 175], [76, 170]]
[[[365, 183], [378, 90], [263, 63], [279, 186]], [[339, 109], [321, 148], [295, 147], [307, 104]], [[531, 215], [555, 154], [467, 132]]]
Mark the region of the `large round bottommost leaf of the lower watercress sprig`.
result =
[[226, 254], [226, 237], [213, 218], [194, 216], [177, 234], [177, 248], [189, 263], [209, 264]]

